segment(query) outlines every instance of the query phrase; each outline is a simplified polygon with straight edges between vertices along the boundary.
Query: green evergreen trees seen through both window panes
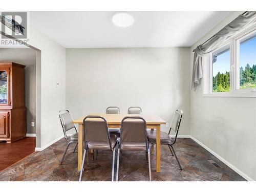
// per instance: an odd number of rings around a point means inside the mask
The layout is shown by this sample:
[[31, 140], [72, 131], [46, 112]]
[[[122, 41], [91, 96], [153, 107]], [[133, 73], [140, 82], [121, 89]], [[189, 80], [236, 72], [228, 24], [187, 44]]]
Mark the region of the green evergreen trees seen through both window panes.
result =
[[[240, 89], [256, 88], [256, 65], [250, 67], [247, 63], [245, 69], [240, 68]], [[213, 92], [229, 92], [230, 90], [230, 74], [229, 72], [218, 73], [212, 77]]]

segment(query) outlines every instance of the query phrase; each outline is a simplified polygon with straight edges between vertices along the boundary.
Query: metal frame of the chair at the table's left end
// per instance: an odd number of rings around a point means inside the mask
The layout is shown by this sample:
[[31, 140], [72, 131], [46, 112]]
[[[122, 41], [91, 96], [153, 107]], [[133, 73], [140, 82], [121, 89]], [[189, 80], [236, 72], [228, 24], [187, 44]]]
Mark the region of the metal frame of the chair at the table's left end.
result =
[[[68, 129], [68, 130], [66, 130], [65, 129], [65, 124], [64, 124], [64, 122], [63, 122], [63, 118], [62, 118], [62, 116], [61, 115], [63, 115], [63, 114], [65, 114], [65, 113], [69, 113], [70, 114], [70, 112], [69, 112], [69, 110], [60, 110], [59, 111], [59, 120], [60, 120], [60, 123], [61, 123], [61, 126], [62, 126], [62, 131], [63, 131], [63, 134], [64, 134], [64, 137], [65, 137], [65, 139], [68, 141], [68, 144], [67, 144], [67, 146], [66, 146], [66, 149], [65, 149], [65, 151], [64, 151], [64, 153], [63, 153], [63, 155], [62, 155], [62, 158], [61, 158], [61, 160], [60, 160], [60, 165], [62, 164], [62, 162], [63, 162], [63, 160], [64, 160], [64, 158], [65, 158], [65, 156], [66, 156], [66, 153], [67, 153], [67, 151], [68, 151], [68, 148], [69, 148], [69, 145], [71, 144], [71, 143], [76, 143], [76, 146], [75, 146], [75, 148], [74, 148], [74, 151], [73, 151], [73, 153], [75, 153], [75, 151], [76, 151], [76, 148], [77, 148], [77, 145], [78, 145], [78, 140], [77, 141], [71, 141], [70, 139], [69, 139], [69, 137], [67, 136], [67, 131], [69, 131], [69, 130], [71, 130], [71, 129], [75, 129], [75, 131], [76, 131], [76, 133], [77, 133], [77, 130], [76, 130], [76, 127], [74, 126], [74, 127], [71, 127], [70, 129]], [[71, 118], [73, 119], [73, 117], [72, 117], [72, 115], [70, 114], [70, 116], [71, 116]]]

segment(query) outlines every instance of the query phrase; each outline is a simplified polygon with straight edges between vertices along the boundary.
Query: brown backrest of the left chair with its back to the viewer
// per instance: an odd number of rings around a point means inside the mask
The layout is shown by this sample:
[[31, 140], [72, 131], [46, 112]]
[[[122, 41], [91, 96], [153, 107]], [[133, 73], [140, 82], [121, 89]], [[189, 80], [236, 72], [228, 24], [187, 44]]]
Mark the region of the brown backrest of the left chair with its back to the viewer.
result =
[[83, 119], [84, 137], [86, 142], [108, 142], [111, 148], [108, 123], [102, 116], [88, 115]]

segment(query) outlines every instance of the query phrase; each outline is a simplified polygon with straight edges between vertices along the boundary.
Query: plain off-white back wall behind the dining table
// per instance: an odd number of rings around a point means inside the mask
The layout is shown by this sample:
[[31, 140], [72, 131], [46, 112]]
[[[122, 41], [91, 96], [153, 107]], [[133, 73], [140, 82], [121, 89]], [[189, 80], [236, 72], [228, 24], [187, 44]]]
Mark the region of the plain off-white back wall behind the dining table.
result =
[[189, 48], [67, 49], [66, 107], [79, 118], [141, 106], [167, 122], [179, 108], [180, 135], [189, 135], [189, 56]]

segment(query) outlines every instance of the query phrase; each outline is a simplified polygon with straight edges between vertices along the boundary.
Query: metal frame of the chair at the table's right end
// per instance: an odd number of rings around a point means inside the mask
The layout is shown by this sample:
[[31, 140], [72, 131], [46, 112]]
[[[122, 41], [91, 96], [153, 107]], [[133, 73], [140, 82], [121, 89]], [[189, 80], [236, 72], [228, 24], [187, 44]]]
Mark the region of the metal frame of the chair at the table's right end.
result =
[[[181, 122], [181, 119], [182, 119], [183, 112], [182, 112], [182, 110], [176, 110], [176, 111], [175, 111], [175, 114], [174, 114], [174, 116], [173, 116], [172, 122], [173, 122], [173, 120], [174, 120], [174, 117], [175, 117], [176, 113], [178, 113], [178, 114], [180, 115], [178, 121], [176, 122], [176, 126], [175, 126], [176, 131], [172, 128], [172, 126], [170, 126], [170, 129], [169, 129], [169, 132], [168, 132], [168, 135], [170, 134], [170, 131], [172, 131], [172, 130], [175, 132], [174, 141], [173, 141], [172, 143], [170, 143], [170, 144], [169, 144], [169, 143], [161, 143], [161, 144], [163, 144], [163, 145], [168, 145], [169, 150], [170, 150], [170, 153], [172, 153], [172, 156], [175, 156], [175, 158], [176, 158], [176, 160], [177, 160], [177, 162], [178, 162], [178, 164], [179, 164], [179, 167], [180, 167], [180, 169], [182, 170], [182, 167], [181, 167], [181, 165], [180, 165], [179, 159], [178, 159], [178, 157], [177, 157], [177, 155], [176, 155], [176, 153], [175, 153], [175, 151], [174, 151], [173, 144], [175, 144], [175, 142], [176, 142], [176, 140], [177, 140], [177, 136], [178, 136], [178, 132], [179, 132], [179, 129], [180, 129], [180, 122]], [[172, 123], [171, 123], [171, 125], [172, 125]], [[150, 143], [150, 150], [151, 150], [151, 147], [152, 147], [154, 144], [156, 144], [156, 142]]]

